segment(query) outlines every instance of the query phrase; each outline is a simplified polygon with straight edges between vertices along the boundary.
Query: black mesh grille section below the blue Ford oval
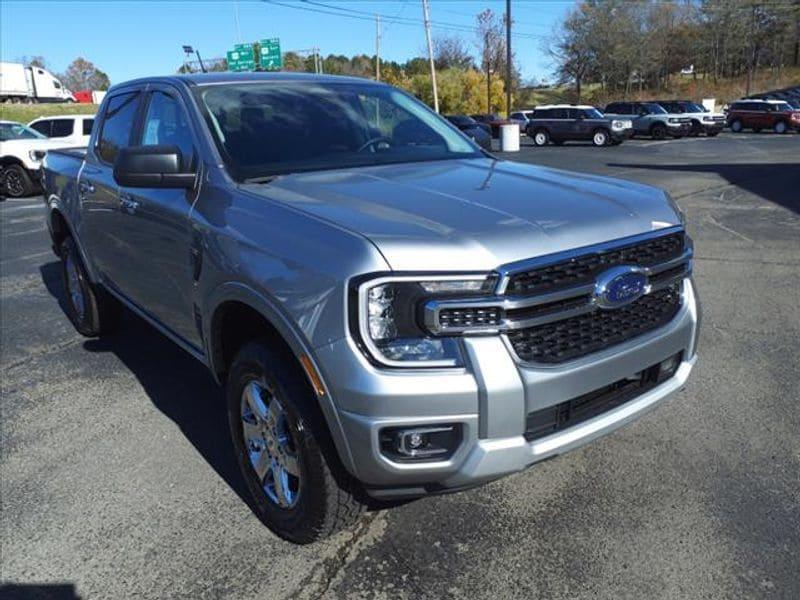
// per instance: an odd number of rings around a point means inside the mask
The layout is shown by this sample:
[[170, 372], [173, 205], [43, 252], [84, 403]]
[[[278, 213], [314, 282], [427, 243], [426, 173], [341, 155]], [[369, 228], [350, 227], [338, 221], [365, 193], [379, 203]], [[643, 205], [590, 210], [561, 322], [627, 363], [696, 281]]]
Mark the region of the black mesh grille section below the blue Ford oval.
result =
[[520, 360], [560, 363], [628, 341], [669, 323], [680, 308], [680, 284], [628, 306], [589, 313], [508, 333]]

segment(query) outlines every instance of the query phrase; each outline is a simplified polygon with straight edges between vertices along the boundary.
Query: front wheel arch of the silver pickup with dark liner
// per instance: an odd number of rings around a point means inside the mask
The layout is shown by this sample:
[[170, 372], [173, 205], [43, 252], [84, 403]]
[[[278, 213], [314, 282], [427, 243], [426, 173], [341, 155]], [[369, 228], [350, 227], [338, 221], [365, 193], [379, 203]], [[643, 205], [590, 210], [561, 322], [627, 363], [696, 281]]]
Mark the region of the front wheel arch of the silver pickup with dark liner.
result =
[[[214, 377], [224, 383], [239, 349], [249, 342], [268, 340], [271, 347], [278, 348], [293, 359], [292, 364], [302, 374], [317, 400], [316, 406], [336, 447], [338, 459], [352, 475], [357, 476], [355, 461], [333, 398], [308, 345], [286, 317], [260, 294], [239, 284], [228, 284], [226, 288], [224, 299], [214, 305], [205, 334], [209, 366]], [[309, 367], [313, 375], [309, 373]], [[317, 381], [313, 378], [317, 378]]]

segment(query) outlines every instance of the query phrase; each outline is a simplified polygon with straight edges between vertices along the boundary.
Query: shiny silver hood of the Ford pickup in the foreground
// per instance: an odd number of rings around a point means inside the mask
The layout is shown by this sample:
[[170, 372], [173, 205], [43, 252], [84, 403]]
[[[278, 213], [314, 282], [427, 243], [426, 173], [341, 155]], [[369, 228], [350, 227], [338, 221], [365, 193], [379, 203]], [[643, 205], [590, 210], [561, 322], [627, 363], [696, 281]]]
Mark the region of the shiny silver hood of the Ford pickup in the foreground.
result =
[[656, 188], [488, 158], [300, 173], [242, 189], [366, 236], [397, 271], [489, 271], [680, 223]]

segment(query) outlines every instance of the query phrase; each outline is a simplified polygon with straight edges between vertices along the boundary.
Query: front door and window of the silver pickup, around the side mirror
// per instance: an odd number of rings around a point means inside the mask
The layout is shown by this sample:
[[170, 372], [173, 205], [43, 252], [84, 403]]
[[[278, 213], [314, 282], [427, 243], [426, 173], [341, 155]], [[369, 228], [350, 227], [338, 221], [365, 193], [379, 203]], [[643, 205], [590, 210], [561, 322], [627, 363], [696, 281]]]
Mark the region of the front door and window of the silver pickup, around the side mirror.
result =
[[[180, 93], [168, 85], [149, 86], [134, 145], [177, 146], [182, 170], [195, 172], [195, 140]], [[161, 325], [195, 348], [202, 348], [193, 300], [201, 254], [199, 237], [193, 236], [190, 222], [196, 191], [120, 187], [119, 197], [129, 252], [123, 292]], [[197, 243], [193, 243], [195, 239]]]

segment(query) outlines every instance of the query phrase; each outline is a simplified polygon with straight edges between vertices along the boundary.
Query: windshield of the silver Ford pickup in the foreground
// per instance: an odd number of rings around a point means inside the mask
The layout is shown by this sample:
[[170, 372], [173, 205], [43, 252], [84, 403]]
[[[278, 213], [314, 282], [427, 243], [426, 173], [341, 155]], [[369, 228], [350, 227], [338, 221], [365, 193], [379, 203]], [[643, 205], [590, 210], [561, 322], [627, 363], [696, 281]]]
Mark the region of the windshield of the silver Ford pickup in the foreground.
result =
[[280, 81], [200, 87], [197, 94], [240, 181], [483, 156], [444, 119], [389, 86]]

